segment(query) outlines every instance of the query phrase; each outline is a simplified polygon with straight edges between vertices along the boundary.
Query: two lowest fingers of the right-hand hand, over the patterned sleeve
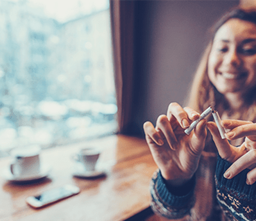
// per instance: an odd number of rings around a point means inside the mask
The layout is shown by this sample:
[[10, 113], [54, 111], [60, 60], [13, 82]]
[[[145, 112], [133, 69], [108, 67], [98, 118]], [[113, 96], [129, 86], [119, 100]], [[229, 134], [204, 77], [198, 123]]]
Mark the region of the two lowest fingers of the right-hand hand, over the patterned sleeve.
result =
[[[224, 177], [231, 179], [242, 172], [244, 169], [249, 168], [250, 166], [256, 163], [256, 150], [250, 150], [241, 156], [237, 161], [235, 161], [224, 173]], [[256, 168], [247, 173], [248, 185], [253, 184], [256, 181]]]

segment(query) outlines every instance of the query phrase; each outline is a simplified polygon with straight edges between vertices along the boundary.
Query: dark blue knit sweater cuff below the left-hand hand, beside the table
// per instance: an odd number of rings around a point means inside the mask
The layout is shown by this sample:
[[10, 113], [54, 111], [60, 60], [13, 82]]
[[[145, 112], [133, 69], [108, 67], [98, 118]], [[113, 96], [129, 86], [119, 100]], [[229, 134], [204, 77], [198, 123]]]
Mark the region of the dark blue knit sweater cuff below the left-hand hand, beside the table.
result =
[[161, 172], [157, 170], [151, 182], [151, 207], [168, 219], [180, 219], [189, 213], [194, 204], [195, 176], [179, 188], [168, 188]]

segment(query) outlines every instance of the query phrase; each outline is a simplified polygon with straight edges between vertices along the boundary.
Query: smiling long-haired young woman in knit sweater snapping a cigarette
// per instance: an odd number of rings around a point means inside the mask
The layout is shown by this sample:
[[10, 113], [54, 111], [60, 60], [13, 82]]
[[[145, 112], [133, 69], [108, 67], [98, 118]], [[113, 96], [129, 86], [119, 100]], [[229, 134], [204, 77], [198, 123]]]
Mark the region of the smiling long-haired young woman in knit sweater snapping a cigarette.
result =
[[[154, 212], [186, 221], [256, 220], [256, 12], [235, 9], [215, 25], [189, 95], [188, 107], [171, 103], [155, 127], [143, 125], [159, 168]], [[219, 112], [225, 139], [211, 116], [184, 133], [208, 106]]]

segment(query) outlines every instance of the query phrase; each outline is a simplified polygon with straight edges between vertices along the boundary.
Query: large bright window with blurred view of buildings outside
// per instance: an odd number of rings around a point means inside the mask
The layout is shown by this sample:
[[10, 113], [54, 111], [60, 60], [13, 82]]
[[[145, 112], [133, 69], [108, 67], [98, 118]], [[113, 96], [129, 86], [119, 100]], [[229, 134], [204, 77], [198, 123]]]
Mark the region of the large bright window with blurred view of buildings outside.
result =
[[114, 133], [108, 0], [0, 0], [0, 152]]

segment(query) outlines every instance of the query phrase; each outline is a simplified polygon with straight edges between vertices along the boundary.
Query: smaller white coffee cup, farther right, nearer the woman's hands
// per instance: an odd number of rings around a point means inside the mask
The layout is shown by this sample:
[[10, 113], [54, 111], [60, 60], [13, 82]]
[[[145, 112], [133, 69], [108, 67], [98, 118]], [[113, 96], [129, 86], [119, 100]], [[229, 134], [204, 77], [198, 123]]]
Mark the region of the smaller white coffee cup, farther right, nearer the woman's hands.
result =
[[101, 151], [97, 148], [87, 147], [79, 151], [78, 154], [72, 157], [77, 162], [82, 162], [85, 170], [94, 171], [100, 157]]

